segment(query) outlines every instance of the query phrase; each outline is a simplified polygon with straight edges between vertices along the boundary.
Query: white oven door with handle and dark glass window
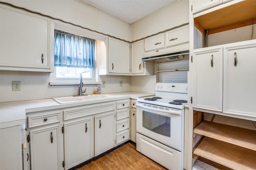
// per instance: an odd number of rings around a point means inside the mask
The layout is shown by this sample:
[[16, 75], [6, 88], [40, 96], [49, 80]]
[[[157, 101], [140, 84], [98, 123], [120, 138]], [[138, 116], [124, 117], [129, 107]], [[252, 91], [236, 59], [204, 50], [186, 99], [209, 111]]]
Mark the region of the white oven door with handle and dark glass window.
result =
[[181, 151], [182, 115], [184, 109], [166, 112], [137, 103], [137, 132]]

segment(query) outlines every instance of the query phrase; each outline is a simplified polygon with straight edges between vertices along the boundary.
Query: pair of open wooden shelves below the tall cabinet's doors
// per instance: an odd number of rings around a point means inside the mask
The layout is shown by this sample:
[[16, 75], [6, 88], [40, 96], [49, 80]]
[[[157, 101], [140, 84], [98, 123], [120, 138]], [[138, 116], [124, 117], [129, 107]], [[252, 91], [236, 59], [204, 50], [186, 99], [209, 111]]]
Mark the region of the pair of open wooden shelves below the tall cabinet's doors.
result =
[[255, 169], [256, 130], [202, 121], [194, 133], [205, 136], [194, 149], [195, 157], [232, 169]]

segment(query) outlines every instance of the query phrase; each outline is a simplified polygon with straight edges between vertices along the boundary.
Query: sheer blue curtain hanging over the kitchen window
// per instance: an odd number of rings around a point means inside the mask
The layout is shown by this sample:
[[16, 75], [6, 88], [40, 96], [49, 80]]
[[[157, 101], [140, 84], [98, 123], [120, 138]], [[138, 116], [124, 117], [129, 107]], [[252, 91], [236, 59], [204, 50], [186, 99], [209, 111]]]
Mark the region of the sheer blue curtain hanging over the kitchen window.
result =
[[54, 66], [94, 69], [94, 55], [95, 40], [54, 30]]

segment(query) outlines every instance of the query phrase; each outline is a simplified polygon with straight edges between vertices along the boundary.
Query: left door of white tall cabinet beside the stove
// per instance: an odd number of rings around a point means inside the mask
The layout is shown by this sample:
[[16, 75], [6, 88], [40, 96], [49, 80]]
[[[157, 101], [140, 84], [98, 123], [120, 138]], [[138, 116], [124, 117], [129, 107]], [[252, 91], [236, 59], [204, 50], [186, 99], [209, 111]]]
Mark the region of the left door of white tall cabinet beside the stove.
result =
[[222, 112], [223, 49], [195, 50], [193, 107]]

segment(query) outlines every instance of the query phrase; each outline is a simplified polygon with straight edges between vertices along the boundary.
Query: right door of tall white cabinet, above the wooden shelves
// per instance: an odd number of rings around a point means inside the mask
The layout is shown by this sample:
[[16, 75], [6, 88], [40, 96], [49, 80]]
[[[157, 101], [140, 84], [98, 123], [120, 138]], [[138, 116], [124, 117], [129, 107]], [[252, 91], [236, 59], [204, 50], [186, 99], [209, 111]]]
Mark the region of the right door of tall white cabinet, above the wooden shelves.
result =
[[224, 48], [224, 113], [254, 115], [256, 43]]

